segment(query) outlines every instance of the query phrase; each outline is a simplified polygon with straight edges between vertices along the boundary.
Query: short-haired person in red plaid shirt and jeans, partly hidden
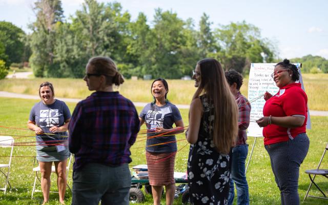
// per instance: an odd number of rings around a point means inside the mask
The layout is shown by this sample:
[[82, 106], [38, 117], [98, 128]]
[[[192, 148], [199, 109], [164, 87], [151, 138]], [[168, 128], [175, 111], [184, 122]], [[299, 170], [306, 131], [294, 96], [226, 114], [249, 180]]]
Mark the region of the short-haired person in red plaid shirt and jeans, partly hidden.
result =
[[248, 154], [246, 129], [250, 125], [251, 104], [248, 99], [240, 93], [243, 79], [242, 75], [237, 71], [230, 69], [229, 71], [226, 71], [226, 79], [230, 85], [232, 94], [235, 96], [239, 110], [238, 137], [235, 146], [232, 148], [231, 180], [228, 204], [233, 204], [235, 183], [237, 189], [237, 204], [244, 205], [250, 203], [249, 188], [245, 175], [245, 160]]

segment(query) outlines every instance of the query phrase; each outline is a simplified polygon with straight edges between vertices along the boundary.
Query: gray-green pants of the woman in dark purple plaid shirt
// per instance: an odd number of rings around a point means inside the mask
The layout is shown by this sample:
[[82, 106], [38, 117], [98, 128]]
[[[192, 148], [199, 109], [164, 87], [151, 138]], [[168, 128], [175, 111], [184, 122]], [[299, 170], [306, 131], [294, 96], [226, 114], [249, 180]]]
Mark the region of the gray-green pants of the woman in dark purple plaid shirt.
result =
[[73, 172], [72, 205], [129, 205], [131, 173], [127, 163], [109, 167], [88, 163]]

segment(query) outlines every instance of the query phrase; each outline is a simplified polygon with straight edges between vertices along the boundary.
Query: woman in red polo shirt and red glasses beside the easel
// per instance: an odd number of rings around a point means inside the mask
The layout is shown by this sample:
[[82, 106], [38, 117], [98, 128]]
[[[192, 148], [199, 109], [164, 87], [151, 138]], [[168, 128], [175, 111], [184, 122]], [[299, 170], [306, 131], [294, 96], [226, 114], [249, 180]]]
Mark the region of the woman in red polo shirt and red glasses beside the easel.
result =
[[263, 116], [256, 122], [263, 127], [275, 181], [280, 190], [281, 204], [299, 204], [299, 167], [308, 154], [310, 140], [306, 135], [308, 97], [301, 89], [299, 72], [288, 59], [278, 63], [272, 73], [279, 91], [264, 94]]

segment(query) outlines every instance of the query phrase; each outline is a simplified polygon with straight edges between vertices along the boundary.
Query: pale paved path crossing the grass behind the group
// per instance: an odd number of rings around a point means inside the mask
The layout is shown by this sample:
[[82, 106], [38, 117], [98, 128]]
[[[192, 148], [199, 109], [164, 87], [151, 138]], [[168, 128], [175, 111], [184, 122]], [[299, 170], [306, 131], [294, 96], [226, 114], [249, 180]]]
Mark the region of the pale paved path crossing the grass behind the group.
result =
[[[0, 97], [12, 97], [12, 98], [23, 98], [23, 99], [40, 99], [37, 95], [26, 95], [26, 94], [18, 94], [18, 93], [10, 93], [6, 91], [0, 91]], [[78, 103], [82, 99], [77, 98], [61, 98], [56, 97], [56, 99], [63, 100], [69, 103]], [[136, 107], [145, 107], [147, 103], [140, 103], [140, 102], [133, 102], [134, 106]], [[179, 109], [189, 109], [189, 105], [176, 105]], [[328, 111], [317, 111], [317, 110], [310, 110], [311, 116], [328, 116]]]

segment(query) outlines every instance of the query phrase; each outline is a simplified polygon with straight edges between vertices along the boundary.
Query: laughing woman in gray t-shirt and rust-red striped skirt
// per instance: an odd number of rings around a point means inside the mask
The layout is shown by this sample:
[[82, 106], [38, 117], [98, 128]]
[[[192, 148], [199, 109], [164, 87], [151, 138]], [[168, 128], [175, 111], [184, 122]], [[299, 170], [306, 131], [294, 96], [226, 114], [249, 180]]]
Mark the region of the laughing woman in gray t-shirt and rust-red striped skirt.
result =
[[[174, 134], [183, 132], [182, 117], [177, 107], [167, 100], [168, 92], [167, 81], [163, 78], [155, 79], [151, 87], [154, 101], [146, 105], [139, 115], [140, 126], [146, 122], [148, 130], [146, 159], [154, 205], [160, 204], [163, 186], [166, 189], [166, 204], [173, 204], [174, 159], [177, 151]], [[165, 136], [155, 136], [160, 134]]]

